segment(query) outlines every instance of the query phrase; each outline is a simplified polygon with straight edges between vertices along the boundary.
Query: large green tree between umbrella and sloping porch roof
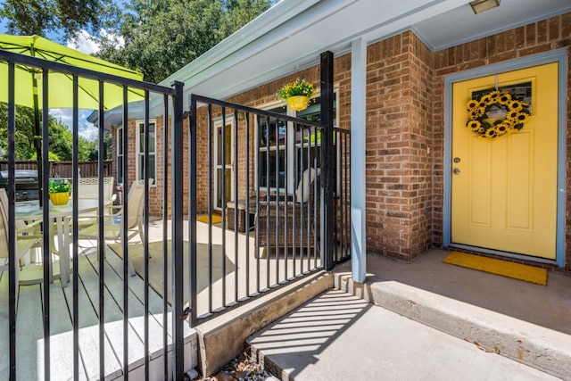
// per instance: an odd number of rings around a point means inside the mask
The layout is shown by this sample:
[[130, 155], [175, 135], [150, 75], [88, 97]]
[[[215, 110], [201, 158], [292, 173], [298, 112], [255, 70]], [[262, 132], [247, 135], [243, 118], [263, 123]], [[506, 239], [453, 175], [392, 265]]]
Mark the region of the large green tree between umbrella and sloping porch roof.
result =
[[270, 5], [269, 0], [133, 0], [97, 55], [158, 83]]

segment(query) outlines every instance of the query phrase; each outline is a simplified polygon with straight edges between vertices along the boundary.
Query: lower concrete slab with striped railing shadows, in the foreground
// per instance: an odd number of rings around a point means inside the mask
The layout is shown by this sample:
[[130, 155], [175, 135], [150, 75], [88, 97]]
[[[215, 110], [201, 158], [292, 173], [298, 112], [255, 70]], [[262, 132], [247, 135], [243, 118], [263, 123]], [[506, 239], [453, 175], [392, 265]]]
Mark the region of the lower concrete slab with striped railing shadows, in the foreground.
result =
[[336, 289], [247, 343], [282, 380], [558, 379]]

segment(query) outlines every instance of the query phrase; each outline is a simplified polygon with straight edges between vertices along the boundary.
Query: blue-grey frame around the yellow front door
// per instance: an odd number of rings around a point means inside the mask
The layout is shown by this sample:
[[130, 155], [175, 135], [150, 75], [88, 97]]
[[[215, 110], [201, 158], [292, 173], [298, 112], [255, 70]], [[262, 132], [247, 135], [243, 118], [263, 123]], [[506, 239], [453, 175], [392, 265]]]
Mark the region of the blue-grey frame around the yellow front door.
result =
[[[557, 49], [542, 54], [534, 54], [528, 57], [517, 58], [507, 62], [499, 62], [486, 65], [480, 68], [461, 71], [444, 76], [444, 156], [443, 156], [443, 247], [455, 246], [472, 248], [461, 244], [451, 244], [451, 151], [452, 151], [452, 85], [469, 79], [476, 79], [502, 73], [505, 71], [527, 69], [546, 63], [559, 62], [559, 93], [558, 93], [558, 169], [557, 169], [557, 232], [556, 232], [556, 260], [559, 267], [563, 267], [565, 259], [565, 200], [567, 194], [566, 186], [566, 161], [567, 161], [567, 141], [566, 141], [566, 111], [567, 111], [567, 48]], [[504, 256], [517, 258], [525, 257], [519, 254], [511, 254], [494, 251], [492, 249], [480, 249], [483, 253], [501, 253]], [[533, 261], [553, 263], [550, 260], [541, 258]]]

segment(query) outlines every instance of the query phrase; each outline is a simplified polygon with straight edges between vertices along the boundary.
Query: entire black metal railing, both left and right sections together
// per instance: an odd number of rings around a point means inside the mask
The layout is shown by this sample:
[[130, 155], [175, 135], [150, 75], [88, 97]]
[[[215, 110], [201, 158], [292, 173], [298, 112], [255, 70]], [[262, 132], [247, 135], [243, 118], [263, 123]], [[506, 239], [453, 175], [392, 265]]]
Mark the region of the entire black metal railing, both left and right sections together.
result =
[[[184, 128], [181, 83], [161, 87], [4, 50], [0, 65], [7, 68], [0, 95], [8, 100], [0, 120], [8, 137], [0, 379], [183, 379], [194, 367], [188, 360], [196, 360], [187, 356], [188, 327], [349, 258], [348, 130], [200, 95], [190, 98]], [[70, 172], [56, 165], [70, 178], [67, 205], [50, 200], [48, 139], [37, 139], [39, 200], [16, 203], [21, 86], [14, 73], [22, 66], [42, 85], [42, 136], [49, 132], [47, 95], [54, 88], [72, 94]], [[70, 88], [53, 82], [55, 74], [65, 74]], [[106, 125], [100, 101], [99, 125], [113, 134], [116, 161], [101, 155], [95, 176], [78, 155], [84, 81], [98, 84], [100, 100], [108, 91], [122, 95], [119, 126]], [[142, 117], [129, 112], [133, 100], [143, 104]], [[109, 170], [121, 174], [119, 209], [103, 184]], [[82, 197], [80, 177], [101, 179], [95, 199]], [[33, 248], [20, 253], [23, 240]]]

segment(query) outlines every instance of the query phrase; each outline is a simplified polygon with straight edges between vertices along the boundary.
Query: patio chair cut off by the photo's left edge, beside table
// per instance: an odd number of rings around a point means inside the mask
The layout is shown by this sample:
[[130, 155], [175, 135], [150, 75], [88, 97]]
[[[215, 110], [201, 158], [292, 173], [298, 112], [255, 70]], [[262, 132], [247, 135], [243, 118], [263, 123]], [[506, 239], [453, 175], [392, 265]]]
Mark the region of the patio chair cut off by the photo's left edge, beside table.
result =
[[[6, 191], [4, 188], [0, 188], [0, 271], [8, 271], [10, 269], [10, 263], [8, 262], [8, 210], [5, 208], [7, 203], [4, 203], [5, 200], [8, 199], [6, 195]], [[20, 273], [21, 268], [21, 261], [25, 254], [29, 253], [32, 247], [39, 245], [37, 238], [26, 238], [21, 239], [20, 236], [16, 235], [16, 253], [14, 258], [18, 258], [18, 265], [16, 267], [16, 271], [14, 272], [16, 277], [16, 311], [18, 311], [18, 290], [19, 290], [19, 282], [18, 282], [18, 274]]]

